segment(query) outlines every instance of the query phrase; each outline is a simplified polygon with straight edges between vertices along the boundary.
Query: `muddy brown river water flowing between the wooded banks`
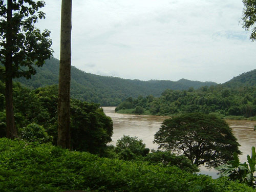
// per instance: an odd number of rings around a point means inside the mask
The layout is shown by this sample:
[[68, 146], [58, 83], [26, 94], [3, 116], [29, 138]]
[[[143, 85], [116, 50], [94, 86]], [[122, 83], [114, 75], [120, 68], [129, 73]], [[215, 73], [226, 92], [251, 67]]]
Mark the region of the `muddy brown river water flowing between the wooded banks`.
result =
[[[115, 113], [115, 107], [108, 106], [103, 107], [104, 113], [111, 117], [113, 120], [114, 133], [112, 136], [112, 142], [110, 144], [115, 145], [117, 139], [120, 139], [123, 135], [130, 135], [132, 137], [138, 137], [142, 139], [147, 148], [157, 150], [158, 145], [153, 143], [154, 135], [159, 130], [161, 123], [169, 118], [163, 116], [150, 116], [150, 115], [127, 115]], [[246, 156], [251, 155], [251, 147], [256, 147], [256, 131], [253, 131], [256, 121], [248, 120], [226, 120], [231, 127], [234, 136], [238, 139], [240, 151], [243, 153], [240, 155], [240, 161], [247, 161]], [[206, 169], [200, 167], [201, 174], [207, 174], [216, 178], [216, 172], [214, 169]]]

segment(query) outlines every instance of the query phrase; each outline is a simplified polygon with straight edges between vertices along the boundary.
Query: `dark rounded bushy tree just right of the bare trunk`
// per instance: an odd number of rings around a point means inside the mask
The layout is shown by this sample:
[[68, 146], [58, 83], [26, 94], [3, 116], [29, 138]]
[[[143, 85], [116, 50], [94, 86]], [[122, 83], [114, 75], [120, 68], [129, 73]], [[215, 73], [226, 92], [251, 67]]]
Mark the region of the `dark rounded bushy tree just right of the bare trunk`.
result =
[[99, 104], [71, 99], [71, 147], [76, 151], [102, 154], [111, 142], [113, 121]]

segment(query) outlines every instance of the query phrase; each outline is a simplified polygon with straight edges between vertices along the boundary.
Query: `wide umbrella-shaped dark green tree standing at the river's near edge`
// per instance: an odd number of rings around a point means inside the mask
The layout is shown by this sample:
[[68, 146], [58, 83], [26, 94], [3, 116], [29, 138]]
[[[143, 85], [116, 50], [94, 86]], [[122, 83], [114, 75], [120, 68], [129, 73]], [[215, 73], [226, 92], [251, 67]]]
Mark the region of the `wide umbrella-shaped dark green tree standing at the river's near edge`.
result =
[[215, 115], [184, 114], [166, 119], [155, 134], [154, 143], [178, 154], [184, 154], [197, 166], [216, 167], [241, 154], [239, 143], [228, 124]]

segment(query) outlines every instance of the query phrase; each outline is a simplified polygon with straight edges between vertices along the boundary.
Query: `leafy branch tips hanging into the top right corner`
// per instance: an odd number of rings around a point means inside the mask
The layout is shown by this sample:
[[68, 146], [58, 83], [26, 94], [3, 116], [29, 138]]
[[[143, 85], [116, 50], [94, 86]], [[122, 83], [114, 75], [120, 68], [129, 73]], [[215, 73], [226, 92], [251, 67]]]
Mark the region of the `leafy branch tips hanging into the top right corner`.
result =
[[243, 10], [243, 28], [249, 31], [251, 29], [250, 39], [252, 41], [256, 40], [256, 1], [243, 0], [244, 10]]

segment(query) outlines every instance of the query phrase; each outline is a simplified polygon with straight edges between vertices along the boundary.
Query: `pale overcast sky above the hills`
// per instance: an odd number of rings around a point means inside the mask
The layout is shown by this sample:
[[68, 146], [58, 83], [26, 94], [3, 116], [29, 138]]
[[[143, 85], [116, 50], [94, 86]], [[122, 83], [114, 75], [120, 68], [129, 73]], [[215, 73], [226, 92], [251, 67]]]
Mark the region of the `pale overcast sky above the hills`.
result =
[[[45, 0], [59, 59], [60, 0]], [[73, 0], [72, 66], [140, 80], [224, 83], [256, 69], [256, 42], [240, 24], [242, 0]]]

